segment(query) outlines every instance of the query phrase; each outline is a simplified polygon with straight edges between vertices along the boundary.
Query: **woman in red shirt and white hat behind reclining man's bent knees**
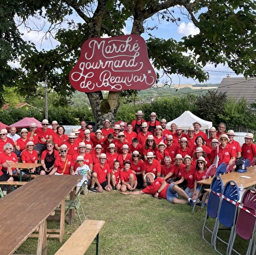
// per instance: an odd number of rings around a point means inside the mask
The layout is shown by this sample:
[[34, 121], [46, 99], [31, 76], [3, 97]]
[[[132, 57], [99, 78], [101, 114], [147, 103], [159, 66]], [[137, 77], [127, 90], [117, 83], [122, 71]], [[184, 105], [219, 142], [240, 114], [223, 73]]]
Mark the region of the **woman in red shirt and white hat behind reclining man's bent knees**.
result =
[[[191, 198], [194, 192], [194, 173], [195, 173], [195, 166], [192, 166], [192, 158], [189, 155], [185, 155], [184, 159], [184, 167], [180, 169], [180, 172], [178, 173], [178, 177], [180, 180], [175, 181], [174, 183], [184, 185], [185, 192]], [[185, 182], [184, 182], [185, 181]]]

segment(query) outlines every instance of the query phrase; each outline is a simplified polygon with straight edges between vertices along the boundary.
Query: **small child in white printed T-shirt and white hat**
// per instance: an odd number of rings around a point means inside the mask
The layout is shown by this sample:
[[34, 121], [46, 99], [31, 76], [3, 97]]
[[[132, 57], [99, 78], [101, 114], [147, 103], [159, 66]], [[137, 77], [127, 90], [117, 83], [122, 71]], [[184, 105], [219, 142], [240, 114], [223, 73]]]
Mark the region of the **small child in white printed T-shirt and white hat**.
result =
[[91, 170], [89, 170], [89, 166], [84, 164], [84, 157], [82, 155], [79, 155], [76, 158], [76, 162], [78, 163], [78, 167], [76, 168], [76, 171], [74, 172], [77, 175], [83, 175], [82, 180], [76, 185], [76, 192], [80, 189], [84, 181], [86, 181], [86, 185], [84, 187], [84, 190], [81, 190], [81, 193], [84, 195], [88, 194], [88, 176], [91, 176]]

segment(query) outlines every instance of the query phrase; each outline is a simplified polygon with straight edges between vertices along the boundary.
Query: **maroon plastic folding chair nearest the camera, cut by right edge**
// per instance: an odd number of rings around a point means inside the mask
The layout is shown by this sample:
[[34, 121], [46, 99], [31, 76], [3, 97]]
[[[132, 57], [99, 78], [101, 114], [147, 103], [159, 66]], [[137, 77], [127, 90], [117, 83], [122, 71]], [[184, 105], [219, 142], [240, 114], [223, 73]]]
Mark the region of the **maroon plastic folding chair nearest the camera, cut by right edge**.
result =
[[[234, 241], [236, 239], [236, 234], [238, 234], [242, 239], [249, 240], [248, 250], [246, 255], [251, 253], [251, 247], [253, 243], [253, 235], [255, 232], [255, 224], [256, 224], [256, 189], [248, 188], [244, 195], [242, 196], [241, 205], [244, 209], [240, 209], [238, 213], [238, 217], [236, 220], [236, 228], [234, 230], [234, 234], [232, 235], [232, 242], [229, 248], [229, 255], [231, 255], [232, 247], [234, 245]], [[255, 245], [253, 247], [253, 253], [255, 254]], [[240, 254], [237, 250], [234, 250], [237, 254]]]

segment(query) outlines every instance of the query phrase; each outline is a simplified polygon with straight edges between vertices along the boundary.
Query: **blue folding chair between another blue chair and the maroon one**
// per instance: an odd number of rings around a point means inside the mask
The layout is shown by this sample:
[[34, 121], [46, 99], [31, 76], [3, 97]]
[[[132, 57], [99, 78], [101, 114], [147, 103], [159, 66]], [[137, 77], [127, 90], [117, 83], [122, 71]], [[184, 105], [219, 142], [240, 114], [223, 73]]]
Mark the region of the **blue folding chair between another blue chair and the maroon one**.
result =
[[[225, 198], [229, 198], [233, 200], [234, 202], [237, 202], [240, 198], [238, 186], [234, 181], [228, 181], [225, 184], [225, 187], [223, 188], [222, 192], [223, 196]], [[232, 234], [234, 233], [234, 225], [235, 225], [235, 220], [236, 220], [236, 211], [237, 211], [237, 206], [234, 203], [231, 203], [227, 201], [225, 198], [221, 200], [221, 203], [219, 203], [219, 211], [216, 219], [216, 223], [214, 226], [214, 238], [213, 238], [213, 246], [214, 249], [221, 254], [216, 248], [216, 240], [219, 239], [223, 243], [227, 245], [227, 252], [229, 250], [229, 247], [231, 245], [232, 241]], [[219, 228], [219, 224], [222, 224], [226, 228]], [[230, 237], [229, 237], [229, 243], [221, 239], [217, 234], [219, 230], [231, 230]]]

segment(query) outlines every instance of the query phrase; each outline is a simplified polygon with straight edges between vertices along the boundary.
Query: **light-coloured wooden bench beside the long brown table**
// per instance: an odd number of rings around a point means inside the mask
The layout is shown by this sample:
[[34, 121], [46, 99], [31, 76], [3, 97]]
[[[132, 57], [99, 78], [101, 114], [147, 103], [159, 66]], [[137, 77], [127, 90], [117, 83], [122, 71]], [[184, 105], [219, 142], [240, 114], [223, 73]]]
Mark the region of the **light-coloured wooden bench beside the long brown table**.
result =
[[67, 239], [56, 255], [84, 255], [93, 241], [96, 243], [96, 252], [99, 253], [99, 232], [103, 228], [104, 220], [85, 220], [82, 225]]

